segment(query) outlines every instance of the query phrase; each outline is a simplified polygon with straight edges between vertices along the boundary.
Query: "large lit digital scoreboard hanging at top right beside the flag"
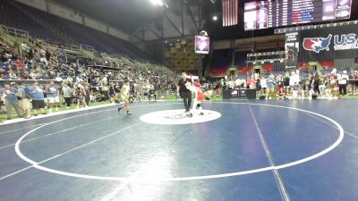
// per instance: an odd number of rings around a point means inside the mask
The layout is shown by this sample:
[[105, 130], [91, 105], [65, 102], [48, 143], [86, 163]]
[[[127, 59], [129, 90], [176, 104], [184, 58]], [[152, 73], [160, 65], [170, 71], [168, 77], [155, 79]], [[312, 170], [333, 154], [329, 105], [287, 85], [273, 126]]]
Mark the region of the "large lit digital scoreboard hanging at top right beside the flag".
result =
[[264, 0], [244, 4], [245, 30], [268, 29], [351, 17], [352, 0]]

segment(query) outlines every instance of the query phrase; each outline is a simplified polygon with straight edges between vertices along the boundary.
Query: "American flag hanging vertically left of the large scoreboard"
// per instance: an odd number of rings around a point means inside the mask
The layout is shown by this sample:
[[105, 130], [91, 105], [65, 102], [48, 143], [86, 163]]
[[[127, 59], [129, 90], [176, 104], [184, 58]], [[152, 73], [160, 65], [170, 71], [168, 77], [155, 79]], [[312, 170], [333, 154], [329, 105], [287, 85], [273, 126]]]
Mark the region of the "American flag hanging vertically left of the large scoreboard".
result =
[[238, 23], [239, 0], [223, 0], [223, 26], [233, 26]]

